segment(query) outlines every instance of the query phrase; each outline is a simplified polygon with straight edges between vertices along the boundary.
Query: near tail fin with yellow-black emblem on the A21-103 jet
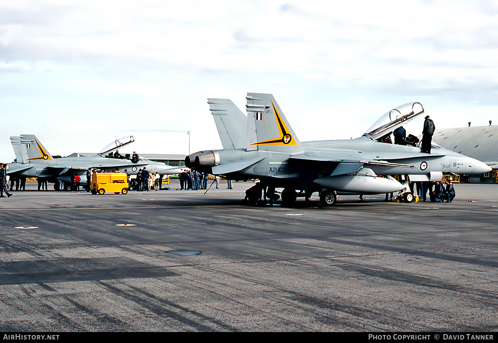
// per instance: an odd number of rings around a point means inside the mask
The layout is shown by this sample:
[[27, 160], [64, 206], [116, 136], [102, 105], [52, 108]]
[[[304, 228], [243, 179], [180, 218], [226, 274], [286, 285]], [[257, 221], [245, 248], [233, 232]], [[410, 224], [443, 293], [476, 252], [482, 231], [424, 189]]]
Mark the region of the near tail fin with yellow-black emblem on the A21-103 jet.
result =
[[303, 151], [299, 139], [297, 139], [273, 95], [248, 93], [247, 100], [248, 150]]

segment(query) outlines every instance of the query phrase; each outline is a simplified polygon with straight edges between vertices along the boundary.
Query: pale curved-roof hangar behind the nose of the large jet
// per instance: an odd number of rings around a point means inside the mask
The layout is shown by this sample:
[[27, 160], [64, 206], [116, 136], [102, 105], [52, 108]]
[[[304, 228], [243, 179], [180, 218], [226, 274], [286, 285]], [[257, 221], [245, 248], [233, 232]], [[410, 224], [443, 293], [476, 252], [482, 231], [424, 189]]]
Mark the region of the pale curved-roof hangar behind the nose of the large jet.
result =
[[443, 148], [475, 158], [488, 164], [493, 171], [480, 177], [462, 179], [467, 182], [498, 181], [498, 126], [471, 126], [436, 129], [432, 141]]

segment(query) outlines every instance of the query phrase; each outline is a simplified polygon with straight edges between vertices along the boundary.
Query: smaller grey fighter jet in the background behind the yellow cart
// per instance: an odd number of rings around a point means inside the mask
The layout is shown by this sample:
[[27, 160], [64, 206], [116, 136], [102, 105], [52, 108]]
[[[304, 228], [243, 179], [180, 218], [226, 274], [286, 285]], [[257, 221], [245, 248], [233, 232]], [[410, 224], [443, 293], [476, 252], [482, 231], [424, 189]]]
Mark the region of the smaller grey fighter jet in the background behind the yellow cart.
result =
[[[7, 174], [46, 179], [49, 182], [54, 182], [55, 190], [59, 190], [57, 180], [60, 180], [64, 182], [65, 188], [69, 190], [72, 175], [80, 175], [81, 183], [84, 184], [86, 182], [86, 171], [89, 168], [107, 169], [110, 172], [116, 169], [124, 172], [124, 169], [127, 169], [129, 173], [134, 173], [139, 168], [145, 167], [154, 174], [159, 172], [161, 176], [178, 174], [183, 171], [182, 167], [172, 167], [165, 163], [154, 162], [145, 158], [138, 158], [133, 162], [124, 156], [120, 158], [118, 154], [113, 155], [113, 152], [133, 141], [133, 136], [117, 139], [93, 156], [53, 158], [33, 134], [10, 137], [17, 162], [7, 164]], [[115, 155], [116, 157], [109, 157]]]

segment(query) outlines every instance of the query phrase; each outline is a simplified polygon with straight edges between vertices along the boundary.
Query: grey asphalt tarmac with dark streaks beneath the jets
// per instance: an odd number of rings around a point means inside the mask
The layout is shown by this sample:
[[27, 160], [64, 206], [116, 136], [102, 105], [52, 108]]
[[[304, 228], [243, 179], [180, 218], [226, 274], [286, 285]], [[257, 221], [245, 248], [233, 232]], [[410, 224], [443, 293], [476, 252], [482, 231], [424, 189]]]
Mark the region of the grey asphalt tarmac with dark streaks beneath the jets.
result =
[[498, 329], [498, 185], [285, 208], [177, 182], [1, 198], [0, 331]]

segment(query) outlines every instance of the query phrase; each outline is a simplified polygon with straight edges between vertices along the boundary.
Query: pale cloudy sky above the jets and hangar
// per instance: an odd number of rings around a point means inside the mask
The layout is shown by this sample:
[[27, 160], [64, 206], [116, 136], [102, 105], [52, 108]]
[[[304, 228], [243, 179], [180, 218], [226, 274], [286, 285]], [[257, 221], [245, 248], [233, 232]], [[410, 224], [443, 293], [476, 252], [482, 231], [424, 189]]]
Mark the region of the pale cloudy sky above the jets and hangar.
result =
[[245, 113], [248, 92], [301, 141], [415, 101], [436, 128], [498, 124], [497, 62], [498, 1], [0, 0], [0, 161], [20, 134], [62, 156], [221, 149], [207, 98]]

